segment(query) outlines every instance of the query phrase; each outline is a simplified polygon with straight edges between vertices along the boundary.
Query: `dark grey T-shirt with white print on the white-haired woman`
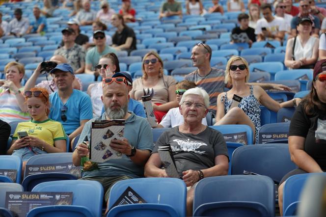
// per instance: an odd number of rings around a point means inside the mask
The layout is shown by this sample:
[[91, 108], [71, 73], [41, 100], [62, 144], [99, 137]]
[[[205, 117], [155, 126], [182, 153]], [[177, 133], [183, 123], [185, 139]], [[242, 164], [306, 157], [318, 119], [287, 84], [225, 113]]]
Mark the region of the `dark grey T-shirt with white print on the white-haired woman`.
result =
[[158, 146], [170, 144], [175, 164], [180, 176], [182, 172], [192, 169], [206, 169], [215, 165], [217, 155], [227, 154], [223, 135], [210, 127], [203, 132], [183, 134], [179, 126], [166, 130], [159, 137], [152, 153], [157, 153]]

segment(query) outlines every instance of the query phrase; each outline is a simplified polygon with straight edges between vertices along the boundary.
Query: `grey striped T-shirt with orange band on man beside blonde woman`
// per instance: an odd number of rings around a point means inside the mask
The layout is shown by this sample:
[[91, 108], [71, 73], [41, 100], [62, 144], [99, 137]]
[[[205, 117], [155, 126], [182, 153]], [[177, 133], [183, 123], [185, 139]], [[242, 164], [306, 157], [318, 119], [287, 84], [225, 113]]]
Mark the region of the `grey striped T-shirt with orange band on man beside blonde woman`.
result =
[[217, 109], [217, 96], [224, 91], [224, 70], [212, 68], [211, 72], [202, 77], [197, 70], [185, 77], [185, 80], [195, 82], [198, 87], [202, 87], [210, 96], [210, 107], [208, 108], [214, 115]]

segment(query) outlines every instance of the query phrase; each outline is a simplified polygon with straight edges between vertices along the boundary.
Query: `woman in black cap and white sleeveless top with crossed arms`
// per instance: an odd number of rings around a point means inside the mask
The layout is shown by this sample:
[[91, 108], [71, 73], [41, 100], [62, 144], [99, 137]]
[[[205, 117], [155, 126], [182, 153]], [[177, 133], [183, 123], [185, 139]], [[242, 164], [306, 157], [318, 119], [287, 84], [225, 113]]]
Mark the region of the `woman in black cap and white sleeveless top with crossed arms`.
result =
[[313, 69], [318, 59], [319, 39], [310, 36], [312, 21], [309, 17], [300, 18], [298, 35], [288, 40], [284, 64], [291, 69]]

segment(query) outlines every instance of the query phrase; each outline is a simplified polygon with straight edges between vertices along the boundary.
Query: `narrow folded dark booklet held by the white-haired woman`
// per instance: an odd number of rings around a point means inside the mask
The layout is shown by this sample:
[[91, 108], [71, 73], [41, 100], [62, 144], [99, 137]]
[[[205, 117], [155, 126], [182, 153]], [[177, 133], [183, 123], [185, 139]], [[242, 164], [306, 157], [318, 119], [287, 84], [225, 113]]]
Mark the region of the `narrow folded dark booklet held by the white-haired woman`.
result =
[[158, 153], [166, 174], [171, 178], [180, 178], [170, 145], [159, 146]]

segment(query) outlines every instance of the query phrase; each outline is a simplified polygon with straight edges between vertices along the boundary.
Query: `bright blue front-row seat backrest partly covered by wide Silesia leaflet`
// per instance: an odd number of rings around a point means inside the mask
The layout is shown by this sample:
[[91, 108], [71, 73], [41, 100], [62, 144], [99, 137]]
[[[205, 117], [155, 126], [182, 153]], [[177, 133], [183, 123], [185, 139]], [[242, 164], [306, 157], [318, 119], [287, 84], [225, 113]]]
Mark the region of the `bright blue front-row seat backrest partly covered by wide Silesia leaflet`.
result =
[[32, 192], [73, 192], [72, 205], [87, 207], [94, 217], [102, 216], [103, 187], [97, 181], [63, 180], [44, 182], [35, 186]]

